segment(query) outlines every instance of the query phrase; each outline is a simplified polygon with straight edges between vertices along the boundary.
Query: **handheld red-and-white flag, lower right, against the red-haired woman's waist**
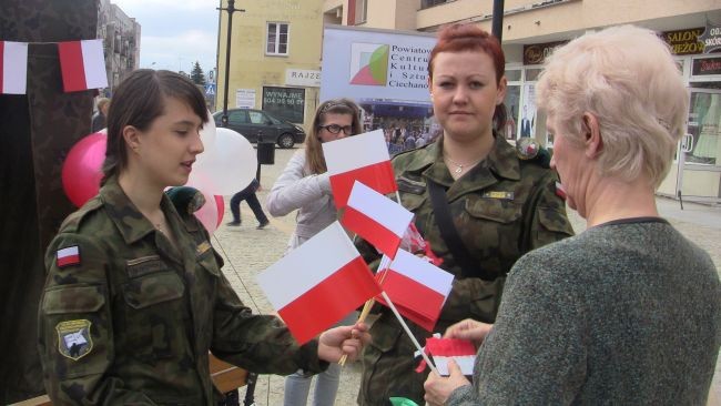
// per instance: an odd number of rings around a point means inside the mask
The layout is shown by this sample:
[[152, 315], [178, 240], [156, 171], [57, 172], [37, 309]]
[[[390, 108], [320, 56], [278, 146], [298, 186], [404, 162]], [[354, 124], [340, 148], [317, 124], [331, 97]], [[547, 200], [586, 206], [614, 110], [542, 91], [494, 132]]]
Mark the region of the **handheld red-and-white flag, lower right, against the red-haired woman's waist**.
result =
[[[453, 287], [454, 275], [407, 251], [398, 250], [376, 278], [404, 317], [433, 332]], [[376, 300], [387, 305], [383, 296]]]

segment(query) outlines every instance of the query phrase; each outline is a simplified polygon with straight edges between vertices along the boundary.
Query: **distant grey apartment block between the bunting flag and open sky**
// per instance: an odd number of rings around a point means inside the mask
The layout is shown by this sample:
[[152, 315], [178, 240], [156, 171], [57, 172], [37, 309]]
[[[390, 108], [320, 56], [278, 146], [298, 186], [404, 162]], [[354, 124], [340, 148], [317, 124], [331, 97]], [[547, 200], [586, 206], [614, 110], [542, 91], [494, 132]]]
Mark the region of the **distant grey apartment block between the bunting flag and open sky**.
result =
[[118, 84], [140, 68], [140, 31], [138, 21], [110, 0], [98, 2], [98, 38], [103, 39], [108, 73], [108, 88], [101, 90], [102, 95], [112, 97]]

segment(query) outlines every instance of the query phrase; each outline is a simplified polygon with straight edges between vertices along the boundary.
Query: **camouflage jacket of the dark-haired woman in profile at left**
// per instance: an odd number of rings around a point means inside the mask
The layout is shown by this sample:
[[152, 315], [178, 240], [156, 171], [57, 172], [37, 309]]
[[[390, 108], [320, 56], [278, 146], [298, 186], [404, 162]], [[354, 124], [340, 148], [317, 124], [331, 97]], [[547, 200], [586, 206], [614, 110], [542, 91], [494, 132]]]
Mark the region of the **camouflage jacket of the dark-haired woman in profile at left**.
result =
[[211, 405], [209, 349], [257, 373], [322, 371], [272, 316], [252, 315], [194, 216], [161, 207], [177, 250], [114, 180], [48, 247], [39, 311], [45, 388], [55, 404]]

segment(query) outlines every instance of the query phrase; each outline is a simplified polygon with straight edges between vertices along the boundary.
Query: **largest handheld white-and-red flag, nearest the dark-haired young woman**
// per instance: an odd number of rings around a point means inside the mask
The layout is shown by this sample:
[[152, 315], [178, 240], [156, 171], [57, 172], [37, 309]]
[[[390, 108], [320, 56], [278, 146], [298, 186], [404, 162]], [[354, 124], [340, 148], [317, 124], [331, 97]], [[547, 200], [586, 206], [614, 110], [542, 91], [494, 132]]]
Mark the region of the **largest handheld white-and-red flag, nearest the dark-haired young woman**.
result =
[[301, 344], [380, 293], [338, 222], [263, 271], [257, 282]]

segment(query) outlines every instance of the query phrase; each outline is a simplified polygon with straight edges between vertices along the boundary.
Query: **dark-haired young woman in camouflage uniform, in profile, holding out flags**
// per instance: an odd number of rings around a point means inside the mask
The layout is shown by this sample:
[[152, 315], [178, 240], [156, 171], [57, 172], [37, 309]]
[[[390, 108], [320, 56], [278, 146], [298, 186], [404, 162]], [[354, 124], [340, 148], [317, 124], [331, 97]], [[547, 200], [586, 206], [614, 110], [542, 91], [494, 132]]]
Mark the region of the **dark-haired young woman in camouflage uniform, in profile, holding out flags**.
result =
[[54, 404], [214, 405], [209, 351], [277, 374], [356, 355], [369, 338], [363, 325], [298, 346], [276, 317], [251, 314], [205, 229], [163, 193], [187, 181], [203, 152], [207, 112], [190, 80], [135, 71], [108, 119], [100, 193], [45, 255], [39, 352]]

